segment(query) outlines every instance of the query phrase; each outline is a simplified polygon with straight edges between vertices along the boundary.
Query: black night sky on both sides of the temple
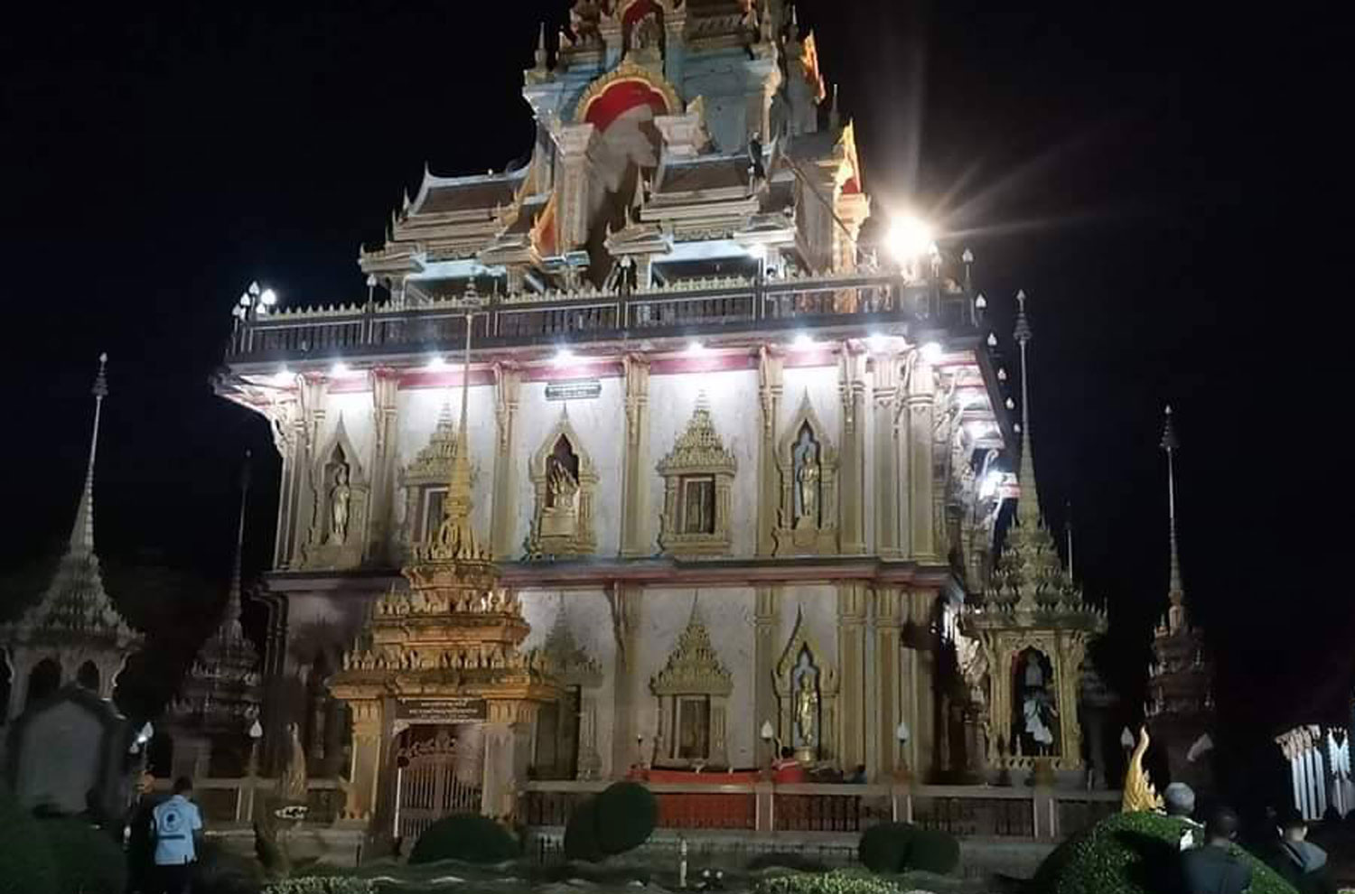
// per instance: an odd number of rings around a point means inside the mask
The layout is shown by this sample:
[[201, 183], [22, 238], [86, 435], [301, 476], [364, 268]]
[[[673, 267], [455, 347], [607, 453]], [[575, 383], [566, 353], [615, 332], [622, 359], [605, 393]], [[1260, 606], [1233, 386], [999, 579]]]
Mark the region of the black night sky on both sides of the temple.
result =
[[[1165, 607], [1175, 406], [1190, 605], [1224, 722], [1259, 741], [1348, 715], [1355, 689], [1337, 54], [1301, 39], [1297, 8], [1205, 5], [805, 0], [801, 22], [867, 191], [963, 233], [1008, 351], [1011, 298], [1031, 298], [1041, 497], [1060, 531], [1072, 504], [1130, 703]], [[0, 35], [0, 576], [31, 581], [69, 531], [107, 351], [99, 551], [133, 619], [191, 652], [247, 448], [247, 573], [271, 555], [267, 428], [209, 385], [233, 299], [251, 279], [285, 303], [360, 299], [358, 247], [425, 160], [473, 173], [530, 148], [522, 69], [568, 3], [26, 7]]]

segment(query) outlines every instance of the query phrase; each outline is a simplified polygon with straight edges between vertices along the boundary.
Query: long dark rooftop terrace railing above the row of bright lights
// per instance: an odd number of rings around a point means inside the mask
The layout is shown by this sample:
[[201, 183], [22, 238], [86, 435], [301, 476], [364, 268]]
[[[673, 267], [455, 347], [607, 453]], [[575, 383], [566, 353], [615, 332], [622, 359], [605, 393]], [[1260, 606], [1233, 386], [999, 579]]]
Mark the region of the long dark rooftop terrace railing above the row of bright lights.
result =
[[[963, 331], [977, 318], [973, 297], [963, 290], [847, 275], [495, 297], [477, 309], [472, 326], [477, 347], [514, 348], [871, 322]], [[249, 364], [421, 354], [459, 347], [465, 337], [466, 310], [455, 301], [312, 307], [238, 322], [226, 359]]]

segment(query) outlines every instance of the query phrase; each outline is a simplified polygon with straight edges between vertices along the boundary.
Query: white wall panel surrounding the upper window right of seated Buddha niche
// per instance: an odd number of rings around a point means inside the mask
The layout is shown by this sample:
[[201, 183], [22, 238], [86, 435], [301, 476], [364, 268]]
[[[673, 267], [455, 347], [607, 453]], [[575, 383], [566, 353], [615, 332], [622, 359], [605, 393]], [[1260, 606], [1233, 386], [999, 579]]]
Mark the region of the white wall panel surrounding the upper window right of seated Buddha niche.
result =
[[673, 448], [705, 391], [710, 417], [725, 448], [734, 454], [730, 528], [733, 555], [752, 555], [757, 549], [757, 439], [762, 410], [757, 404], [757, 371], [684, 372], [649, 379], [649, 519], [645, 542], [659, 551], [659, 513], [664, 509], [664, 480], [656, 466]]

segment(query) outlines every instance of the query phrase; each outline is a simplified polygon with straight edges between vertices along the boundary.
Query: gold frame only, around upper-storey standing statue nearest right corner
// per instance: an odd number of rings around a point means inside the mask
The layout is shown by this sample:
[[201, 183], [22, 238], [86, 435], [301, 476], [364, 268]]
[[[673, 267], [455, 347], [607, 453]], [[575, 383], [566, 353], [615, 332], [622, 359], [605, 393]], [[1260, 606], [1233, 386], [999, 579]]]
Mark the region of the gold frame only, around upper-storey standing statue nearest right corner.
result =
[[[805, 425], [818, 443], [818, 524], [795, 524], [795, 442]], [[837, 448], [828, 428], [818, 420], [809, 391], [776, 446], [776, 473], [780, 478], [780, 507], [772, 528], [772, 555], [836, 555], [837, 530]]]

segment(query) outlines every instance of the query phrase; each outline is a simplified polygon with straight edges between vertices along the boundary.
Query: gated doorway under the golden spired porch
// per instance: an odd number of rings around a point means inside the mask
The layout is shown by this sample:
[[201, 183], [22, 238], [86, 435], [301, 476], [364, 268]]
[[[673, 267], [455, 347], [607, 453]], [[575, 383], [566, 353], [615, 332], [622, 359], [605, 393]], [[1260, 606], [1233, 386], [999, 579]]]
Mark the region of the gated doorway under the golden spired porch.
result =
[[417, 841], [438, 820], [480, 813], [484, 737], [478, 723], [419, 725], [396, 737], [396, 837]]

